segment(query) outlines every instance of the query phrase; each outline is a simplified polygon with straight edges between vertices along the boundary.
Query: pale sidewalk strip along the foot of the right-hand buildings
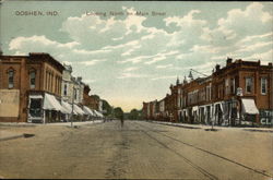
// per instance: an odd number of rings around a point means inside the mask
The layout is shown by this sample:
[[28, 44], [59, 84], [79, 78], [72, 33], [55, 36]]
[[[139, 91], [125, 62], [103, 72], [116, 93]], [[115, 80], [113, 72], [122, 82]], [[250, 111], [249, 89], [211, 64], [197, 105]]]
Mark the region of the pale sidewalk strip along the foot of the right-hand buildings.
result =
[[[205, 124], [189, 124], [189, 123], [178, 123], [178, 122], [164, 122], [164, 121], [147, 121], [152, 123], [158, 123], [164, 125], [171, 125], [171, 127], [179, 127], [179, 128], [186, 128], [186, 129], [203, 129], [207, 130], [211, 129], [212, 125], [205, 125]], [[213, 129], [216, 130], [244, 130], [244, 131], [256, 131], [256, 132], [271, 132], [273, 133], [273, 128], [239, 128], [239, 127], [217, 127], [214, 125]]]

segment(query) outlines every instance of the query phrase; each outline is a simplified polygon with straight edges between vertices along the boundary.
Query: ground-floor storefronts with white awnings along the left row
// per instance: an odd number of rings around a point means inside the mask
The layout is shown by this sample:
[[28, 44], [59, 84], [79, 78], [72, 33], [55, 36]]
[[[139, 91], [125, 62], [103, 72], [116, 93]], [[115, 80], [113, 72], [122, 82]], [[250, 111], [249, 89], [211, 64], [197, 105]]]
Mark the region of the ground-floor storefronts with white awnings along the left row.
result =
[[87, 121], [102, 119], [104, 116], [86, 106], [70, 104], [66, 100], [58, 100], [54, 95], [33, 94], [28, 96], [27, 122], [68, 122], [73, 120]]

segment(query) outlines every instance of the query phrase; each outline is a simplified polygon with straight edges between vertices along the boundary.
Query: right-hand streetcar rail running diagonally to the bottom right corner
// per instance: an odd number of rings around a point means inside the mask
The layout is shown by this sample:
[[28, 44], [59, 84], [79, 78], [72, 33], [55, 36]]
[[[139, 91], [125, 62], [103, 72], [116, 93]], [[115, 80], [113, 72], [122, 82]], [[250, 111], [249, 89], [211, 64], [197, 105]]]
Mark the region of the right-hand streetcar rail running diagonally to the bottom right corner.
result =
[[[144, 127], [144, 128], [146, 128], [146, 129], [149, 129], [149, 130], [153, 130], [153, 129], [147, 128], [147, 127], [145, 127], [145, 125], [142, 125], [142, 124], [140, 124], [140, 123], [138, 123], [138, 124], [141, 125], [141, 127]], [[273, 177], [273, 176], [270, 175], [270, 173], [263, 172], [263, 171], [261, 171], [261, 170], [254, 169], [254, 168], [252, 168], [252, 167], [249, 167], [249, 166], [244, 165], [244, 164], [241, 164], [241, 163], [235, 161], [235, 160], [229, 159], [229, 158], [227, 158], [227, 157], [224, 157], [224, 156], [221, 156], [221, 155], [218, 155], [218, 154], [212, 153], [212, 152], [210, 152], [210, 151], [207, 151], [207, 149], [203, 149], [203, 148], [197, 147], [197, 146], [194, 146], [194, 145], [192, 145], [192, 144], [182, 142], [181, 140], [177, 140], [177, 139], [175, 139], [175, 137], [173, 137], [173, 136], [169, 136], [169, 135], [167, 135], [167, 134], [165, 134], [165, 133], [161, 133], [161, 132], [156, 132], [156, 131], [154, 131], [154, 132], [157, 133], [157, 134], [162, 134], [162, 135], [164, 135], [164, 136], [166, 136], [166, 137], [168, 137], [168, 139], [171, 139], [171, 140], [174, 140], [174, 141], [176, 141], [176, 142], [179, 142], [179, 143], [181, 143], [181, 144], [183, 144], [183, 145], [187, 145], [187, 146], [190, 146], [190, 147], [192, 147], [192, 148], [195, 148], [195, 149], [199, 149], [199, 151], [201, 151], [201, 152], [204, 152], [204, 153], [206, 153], [206, 154], [210, 154], [210, 155], [212, 155], [212, 156], [214, 156], [214, 157], [218, 157], [218, 158], [224, 159], [224, 160], [226, 160], [226, 161], [229, 161], [229, 163], [232, 163], [232, 164], [235, 164], [235, 165], [238, 165], [238, 166], [240, 166], [240, 167], [244, 167], [244, 168], [246, 168], [246, 169], [248, 169], [248, 170], [254, 171], [254, 172], [257, 172], [257, 173], [263, 175], [263, 176], [269, 177], [269, 178], [272, 178], [272, 177]]]

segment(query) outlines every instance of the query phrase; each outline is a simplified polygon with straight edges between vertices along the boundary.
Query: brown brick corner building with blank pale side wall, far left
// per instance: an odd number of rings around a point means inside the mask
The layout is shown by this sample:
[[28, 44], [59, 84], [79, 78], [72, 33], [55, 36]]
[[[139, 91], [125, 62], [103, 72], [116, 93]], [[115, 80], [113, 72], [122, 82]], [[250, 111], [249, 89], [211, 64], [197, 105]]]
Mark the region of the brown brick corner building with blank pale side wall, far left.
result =
[[48, 53], [0, 56], [0, 121], [60, 120], [63, 69]]

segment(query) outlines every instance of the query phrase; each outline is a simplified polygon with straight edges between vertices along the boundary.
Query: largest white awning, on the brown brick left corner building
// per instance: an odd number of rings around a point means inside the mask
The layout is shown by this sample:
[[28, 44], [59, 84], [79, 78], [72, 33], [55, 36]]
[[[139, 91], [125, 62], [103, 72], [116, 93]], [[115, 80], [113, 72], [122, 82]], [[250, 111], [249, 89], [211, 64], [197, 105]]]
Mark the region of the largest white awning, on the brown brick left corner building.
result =
[[60, 105], [60, 103], [55, 98], [55, 96], [49, 95], [49, 94], [45, 94], [44, 109], [57, 110], [57, 111], [61, 111], [63, 113], [67, 112], [67, 110]]

